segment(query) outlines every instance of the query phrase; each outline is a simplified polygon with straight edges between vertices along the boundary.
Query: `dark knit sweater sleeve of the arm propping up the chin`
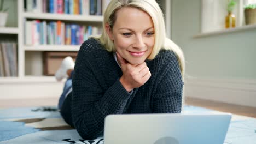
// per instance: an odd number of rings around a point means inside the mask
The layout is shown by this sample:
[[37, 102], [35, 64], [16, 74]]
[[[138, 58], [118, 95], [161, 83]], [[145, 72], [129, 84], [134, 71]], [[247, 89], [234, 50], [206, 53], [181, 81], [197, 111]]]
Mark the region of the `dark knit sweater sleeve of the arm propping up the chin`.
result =
[[71, 111], [75, 129], [88, 140], [103, 135], [104, 118], [109, 114], [123, 113], [130, 94], [119, 79], [103, 90], [98, 80], [104, 80], [104, 76], [97, 71], [99, 66], [91, 62], [89, 56], [93, 53], [88, 54], [82, 48], [75, 62]]

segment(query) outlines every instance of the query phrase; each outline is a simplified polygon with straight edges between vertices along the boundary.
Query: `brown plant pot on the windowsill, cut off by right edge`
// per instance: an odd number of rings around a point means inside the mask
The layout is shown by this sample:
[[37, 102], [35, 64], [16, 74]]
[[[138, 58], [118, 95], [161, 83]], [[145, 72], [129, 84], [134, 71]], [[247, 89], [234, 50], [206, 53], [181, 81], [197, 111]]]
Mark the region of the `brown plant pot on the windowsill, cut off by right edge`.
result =
[[244, 9], [246, 25], [256, 23], [256, 4], [246, 5]]

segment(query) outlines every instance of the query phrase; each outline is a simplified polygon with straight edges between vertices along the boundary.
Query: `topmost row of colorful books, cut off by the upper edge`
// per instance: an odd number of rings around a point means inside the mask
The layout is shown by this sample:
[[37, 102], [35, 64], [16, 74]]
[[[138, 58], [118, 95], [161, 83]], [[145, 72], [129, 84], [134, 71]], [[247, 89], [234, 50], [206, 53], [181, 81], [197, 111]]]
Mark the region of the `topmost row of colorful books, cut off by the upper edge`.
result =
[[102, 15], [110, 0], [25, 0], [27, 12]]

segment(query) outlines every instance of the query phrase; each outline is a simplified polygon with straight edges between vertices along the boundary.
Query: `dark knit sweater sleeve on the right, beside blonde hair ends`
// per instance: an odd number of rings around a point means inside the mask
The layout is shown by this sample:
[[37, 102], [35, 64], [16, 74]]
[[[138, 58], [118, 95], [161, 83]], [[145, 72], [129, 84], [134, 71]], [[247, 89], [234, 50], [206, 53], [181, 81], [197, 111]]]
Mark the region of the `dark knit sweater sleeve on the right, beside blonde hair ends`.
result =
[[183, 80], [176, 56], [173, 52], [165, 53], [160, 63], [161, 75], [153, 98], [153, 113], [181, 113]]

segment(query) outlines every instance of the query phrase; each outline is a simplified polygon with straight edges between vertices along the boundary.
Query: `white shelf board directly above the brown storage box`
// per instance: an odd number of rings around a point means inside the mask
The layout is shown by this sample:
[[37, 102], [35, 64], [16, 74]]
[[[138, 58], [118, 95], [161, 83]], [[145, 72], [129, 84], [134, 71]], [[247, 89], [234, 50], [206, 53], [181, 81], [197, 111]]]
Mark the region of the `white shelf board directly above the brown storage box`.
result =
[[24, 46], [25, 51], [78, 51], [80, 45], [36, 45]]

